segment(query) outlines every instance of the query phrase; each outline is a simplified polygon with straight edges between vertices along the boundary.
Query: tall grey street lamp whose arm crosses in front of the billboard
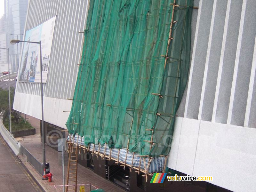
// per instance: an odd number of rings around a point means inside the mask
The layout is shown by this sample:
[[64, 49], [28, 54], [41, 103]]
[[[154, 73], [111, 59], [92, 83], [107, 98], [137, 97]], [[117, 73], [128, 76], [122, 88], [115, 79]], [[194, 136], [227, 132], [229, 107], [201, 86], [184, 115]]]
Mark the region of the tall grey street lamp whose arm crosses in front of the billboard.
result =
[[[34, 41], [20, 41], [19, 39], [12, 39], [10, 41], [11, 44], [16, 44], [20, 42], [27, 42], [27, 43], [35, 43], [39, 44], [39, 57], [40, 57], [40, 76], [41, 76], [41, 108], [42, 108], [42, 136], [43, 136], [43, 167], [44, 167], [44, 175], [45, 175], [45, 148], [44, 148], [44, 105], [43, 105], [43, 77], [42, 77], [42, 47], [41, 47], [41, 41], [34, 42]], [[43, 179], [47, 179], [46, 177]]]

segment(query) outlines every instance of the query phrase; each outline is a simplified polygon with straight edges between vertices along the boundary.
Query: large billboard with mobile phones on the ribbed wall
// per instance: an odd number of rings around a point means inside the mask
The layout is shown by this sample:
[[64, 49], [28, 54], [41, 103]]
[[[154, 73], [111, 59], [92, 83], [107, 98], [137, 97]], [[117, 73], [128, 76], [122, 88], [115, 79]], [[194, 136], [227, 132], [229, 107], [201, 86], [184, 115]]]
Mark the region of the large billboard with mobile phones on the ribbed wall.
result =
[[40, 82], [40, 66], [42, 66], [43, 83], [46, 83], [51, 58], [55, 20], [56, 16], [26, 31], [24, 41], [39, 42], [41, 40], [42, 65], [39, 58], [39, 44], [24, 42], [19, 66], [20, 82]]

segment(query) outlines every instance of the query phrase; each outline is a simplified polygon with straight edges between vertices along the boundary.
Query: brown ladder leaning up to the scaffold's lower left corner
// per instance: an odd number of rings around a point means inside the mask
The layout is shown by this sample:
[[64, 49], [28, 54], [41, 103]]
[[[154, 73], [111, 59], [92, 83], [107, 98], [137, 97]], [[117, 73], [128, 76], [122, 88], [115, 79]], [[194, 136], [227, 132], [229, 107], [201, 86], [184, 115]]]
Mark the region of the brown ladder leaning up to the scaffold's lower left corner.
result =
[[[69, 152], [69, 157], [68, 157], [68, 174], [67, 174], [67, 183], [66, 183], [66, 192], [68, 191], [75, 191], [77, 189], [77, 160], [78, 160], [78, 145], [74, 143], [75, 140], [75, 135], [72, 137], [72, 140], [70, 140], [71, 135], [69, 135], [69, 141], [68, 141], [68, 150], [67, 152]], [[77, 138], [77, 143], [78, 143], [78, 139]], [[75, 153], [75, 155], [74, 155]], [[69, 177], [70, 175], [70, 177]], [[74, 176], [75, 175], [75, 176]], [[72, 179], [72, 180], [69, 180]], [[75, 180], [73, 180], [75, 179]], [[68, 185], [75, 185], [75, 186], [70, 186], [72, 188], [68, 188]]]

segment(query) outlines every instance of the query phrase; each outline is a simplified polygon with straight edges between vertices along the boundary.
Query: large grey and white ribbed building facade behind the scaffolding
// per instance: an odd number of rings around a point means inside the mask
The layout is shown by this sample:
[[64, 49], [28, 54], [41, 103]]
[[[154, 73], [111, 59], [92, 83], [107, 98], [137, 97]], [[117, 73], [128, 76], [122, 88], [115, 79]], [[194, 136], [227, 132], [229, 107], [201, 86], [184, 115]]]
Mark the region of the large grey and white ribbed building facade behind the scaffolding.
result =
[[[24, 31], [56, 16], [43, 85], [48, 131], [66, 129], [84, 41], [79, 32], [85, 29], [89, 5], [83, 0], [28, 4]], [[253, 191], [256, 187], [256, 2], [194, 0], [194, 6], [189, 78], [176, 114], [167, 167], [180, 175], [213, 180], [160, 185], [93, 154], [80, 156], [81, 164], [127, 190]], [[41, 119], [40, 84], [17, 82], [13, 108]], [[106, 177], [106, 167], [115, 176]]]

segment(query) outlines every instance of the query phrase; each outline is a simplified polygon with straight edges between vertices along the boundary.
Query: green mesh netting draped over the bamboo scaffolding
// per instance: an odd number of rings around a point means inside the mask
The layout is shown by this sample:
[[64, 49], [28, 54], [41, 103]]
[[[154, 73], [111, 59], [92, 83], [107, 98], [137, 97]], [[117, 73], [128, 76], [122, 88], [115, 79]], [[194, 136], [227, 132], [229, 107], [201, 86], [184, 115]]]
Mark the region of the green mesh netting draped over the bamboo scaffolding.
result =
[[[189, 69], [192, 0], [91, 0], [67, 128], [89, 143], [168, 155]], [[163, 96], [159, 97], [161, 94]], [[152, 139], [151, 139], [152, 138]], [[153, 143], [151, 143], [153, 141]]]

